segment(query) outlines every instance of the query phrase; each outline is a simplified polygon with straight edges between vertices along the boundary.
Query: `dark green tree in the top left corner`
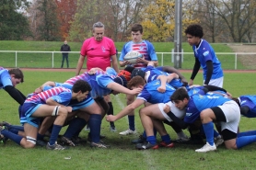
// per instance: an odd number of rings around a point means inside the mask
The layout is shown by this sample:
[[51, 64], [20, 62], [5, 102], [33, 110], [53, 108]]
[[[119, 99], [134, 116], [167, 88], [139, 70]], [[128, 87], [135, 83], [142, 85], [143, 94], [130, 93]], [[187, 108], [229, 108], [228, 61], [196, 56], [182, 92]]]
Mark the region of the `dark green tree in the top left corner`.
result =
[[31, 36], [28, 18], [23, 15], [28, 7], [27, 0], [0, 1], [0, 40], [23, 40]]

